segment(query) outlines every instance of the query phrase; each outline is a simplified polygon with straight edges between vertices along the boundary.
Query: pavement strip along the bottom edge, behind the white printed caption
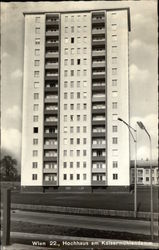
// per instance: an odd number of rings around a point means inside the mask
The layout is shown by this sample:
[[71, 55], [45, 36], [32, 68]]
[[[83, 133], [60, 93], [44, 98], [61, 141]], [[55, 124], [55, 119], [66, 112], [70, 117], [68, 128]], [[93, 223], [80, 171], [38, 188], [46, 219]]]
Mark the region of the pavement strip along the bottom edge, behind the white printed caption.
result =
[[[144, 241], [126, 241], [126, 240], [112, 240], [112, 239], [97, 239], [97, 238], [86, 238], [86, 237], [69, 237], [69, 236], [61, 236], [61, 235], [45, 235], [45, 234], [29, 234], [29, 233], [17, 233], [12, 232], [11, 238], [21, 238], [23, 240], [30, 239], [32, 244], [12, 244], [10, 246], [3, 246], [2, 250], [45, 250], [45, 249], [87, 249], [93, 250], [95, 249], [159, 249], [159, 243], [154, 242], [144, 242]], [[33, 246], [33, 242], [35, 244], [35, 239], [37, 244], [44, 244], [47, 242], [52, 245], [52, 247], [38, 247]], [[60, 244], [59, 244], [60, 243]], [[85, 248], [81, 247], [86, 246]], [[68, 248], [66, 248], [68, 247]]]

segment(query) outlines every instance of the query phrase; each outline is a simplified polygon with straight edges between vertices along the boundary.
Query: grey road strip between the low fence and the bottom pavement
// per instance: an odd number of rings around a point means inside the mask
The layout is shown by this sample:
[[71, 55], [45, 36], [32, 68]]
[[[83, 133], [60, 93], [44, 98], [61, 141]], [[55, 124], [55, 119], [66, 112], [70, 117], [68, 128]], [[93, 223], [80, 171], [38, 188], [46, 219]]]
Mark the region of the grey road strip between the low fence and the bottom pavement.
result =
[[[103, 217], [49, 214], [15, 210], [11, 214], [11, 221], [71, 226], [105, 231], [129, 232], [144, 235], [150, 234], [150, 222], [141, 220], [112, 219]], [[155, 222], [154, 225], [154, 233], [157, 235], [157, 222]]]

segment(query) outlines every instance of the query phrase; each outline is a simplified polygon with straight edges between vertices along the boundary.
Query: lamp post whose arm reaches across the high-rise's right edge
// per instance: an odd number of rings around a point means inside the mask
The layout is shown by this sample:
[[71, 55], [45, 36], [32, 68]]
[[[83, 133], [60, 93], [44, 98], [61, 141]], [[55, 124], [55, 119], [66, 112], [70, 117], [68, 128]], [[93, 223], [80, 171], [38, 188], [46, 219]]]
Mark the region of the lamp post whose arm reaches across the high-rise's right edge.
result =
[[[118, 118], [118, 121], [123, 122], [127, 128], [129, 129], [129, 132], [133, 138], [134, 145], [135, 145], [135, 164], [134, 164], [134, 217], [136, 218], [137, 216], [137, 167], [136, 167], [136, 162], [137, 162], [137, 130], [132, 128], [127, 122], [125, 122], [123, 119]], [[132, 131], [133, 130], [136, 134], [134, 137]]]

